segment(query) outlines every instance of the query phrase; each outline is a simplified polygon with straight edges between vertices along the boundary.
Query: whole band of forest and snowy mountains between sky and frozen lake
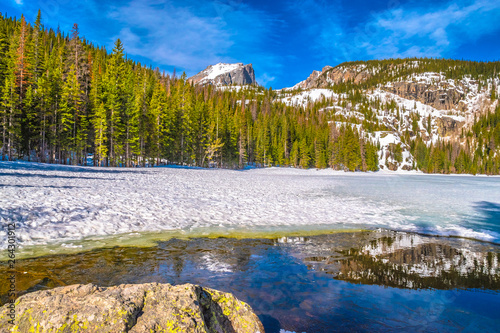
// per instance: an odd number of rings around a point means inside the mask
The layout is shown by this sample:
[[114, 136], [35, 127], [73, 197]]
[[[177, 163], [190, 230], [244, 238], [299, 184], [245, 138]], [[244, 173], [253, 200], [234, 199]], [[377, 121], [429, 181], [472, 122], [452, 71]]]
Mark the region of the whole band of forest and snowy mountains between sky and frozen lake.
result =
[[195, 84], [40, 15], [0, 31], [2, 160], [500, 174], [500, 62], [359, 61], [272, 90], [235, 86], [255, 82], [242, 63]]

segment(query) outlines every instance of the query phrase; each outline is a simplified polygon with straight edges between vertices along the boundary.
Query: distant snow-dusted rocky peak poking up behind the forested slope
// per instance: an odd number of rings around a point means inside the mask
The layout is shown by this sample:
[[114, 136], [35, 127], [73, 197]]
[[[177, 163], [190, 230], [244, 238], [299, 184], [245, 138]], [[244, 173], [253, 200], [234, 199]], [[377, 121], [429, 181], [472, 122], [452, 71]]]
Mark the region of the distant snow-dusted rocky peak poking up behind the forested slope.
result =
[[188, 79], [193, 84], [213, 85], [247, 85], [255, 84], [255, 73], [252, 64], [217, 64], [208, 66], [205, 70]]

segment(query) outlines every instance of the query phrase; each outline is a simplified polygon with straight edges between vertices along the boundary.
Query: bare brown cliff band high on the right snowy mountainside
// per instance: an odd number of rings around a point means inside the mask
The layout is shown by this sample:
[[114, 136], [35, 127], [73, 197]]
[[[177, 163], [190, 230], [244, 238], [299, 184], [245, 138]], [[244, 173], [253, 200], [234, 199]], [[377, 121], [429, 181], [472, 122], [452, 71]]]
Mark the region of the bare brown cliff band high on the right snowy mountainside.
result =
[[402, 98], [430, 105], [438, 110], [457, 108], [464, 97], [456, 89], [426, 83], [394, 82], [391, 86], [383, 89]]

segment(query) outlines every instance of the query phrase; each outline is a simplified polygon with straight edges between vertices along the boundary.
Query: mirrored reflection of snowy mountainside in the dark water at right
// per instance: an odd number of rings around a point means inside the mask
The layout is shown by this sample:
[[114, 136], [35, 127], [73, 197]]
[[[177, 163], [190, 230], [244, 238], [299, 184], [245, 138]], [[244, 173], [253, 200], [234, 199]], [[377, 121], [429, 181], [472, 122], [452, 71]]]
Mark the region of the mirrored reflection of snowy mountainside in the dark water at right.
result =
[[[408, 233], [379, 233], [369, 244], [317, 256], [321, 237], [310, 240], [315, 255], [302, 259], [310, 269], [335, 279], [390, 287], [423, 289], [500, 289], [497, 246], [473, 241], [424, 237]], [[324, 251], [321, 251], [324, 253]]]

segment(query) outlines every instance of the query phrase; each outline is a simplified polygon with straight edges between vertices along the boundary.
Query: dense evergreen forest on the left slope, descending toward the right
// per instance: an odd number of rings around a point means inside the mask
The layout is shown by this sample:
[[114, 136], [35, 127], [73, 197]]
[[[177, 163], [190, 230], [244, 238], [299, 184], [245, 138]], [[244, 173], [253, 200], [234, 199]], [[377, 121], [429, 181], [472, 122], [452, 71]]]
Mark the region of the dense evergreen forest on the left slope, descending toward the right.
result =
[[[80, 37], [0, 16], [1, 159], [377, 170], [377, 148], [272, 89], [194, 86]], [[90, 161], [90, 162], [89, 162]]]

